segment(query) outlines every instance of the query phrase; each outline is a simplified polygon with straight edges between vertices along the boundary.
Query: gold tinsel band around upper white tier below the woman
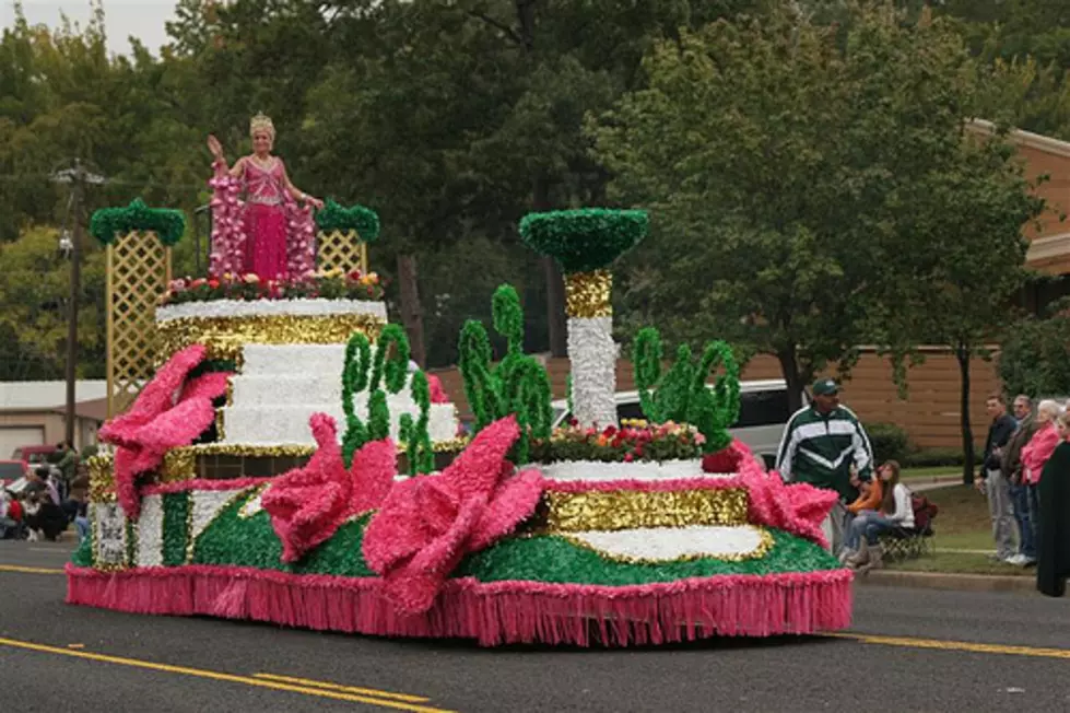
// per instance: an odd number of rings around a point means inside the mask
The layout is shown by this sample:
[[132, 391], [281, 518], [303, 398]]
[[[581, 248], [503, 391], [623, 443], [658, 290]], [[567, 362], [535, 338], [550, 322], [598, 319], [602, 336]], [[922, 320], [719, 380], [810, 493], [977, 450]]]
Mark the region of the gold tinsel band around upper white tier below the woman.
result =
[[368, 314], [178, 317], [156, 323], [163, 358], [202, 343], [209, 359], [234, 360], [244, 344], [344, 344], [355, 331], [374, 341], [383, 326], [383, 319]]

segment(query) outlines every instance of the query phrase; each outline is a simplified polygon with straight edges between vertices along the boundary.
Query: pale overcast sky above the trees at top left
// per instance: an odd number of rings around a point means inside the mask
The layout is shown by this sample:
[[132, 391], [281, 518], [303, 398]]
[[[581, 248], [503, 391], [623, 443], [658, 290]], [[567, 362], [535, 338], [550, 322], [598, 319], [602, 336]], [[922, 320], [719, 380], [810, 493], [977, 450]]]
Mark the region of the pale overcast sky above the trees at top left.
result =
[[[130, 52], [127, 37], [138, 37], [154, 55], [167, 42], [164, 23], [174, 17], [176, 0], [104, 0], [105, 28], [108, 49], [126, 55]], [[12, 0], [0, 0], [0, 26], [14, 24]], [[66, 14], [72, 22], [84, 26], [90, 17], [89, 0], [23, 0], [23, 12], [32, 25], [45, 24], [58, 27]]]

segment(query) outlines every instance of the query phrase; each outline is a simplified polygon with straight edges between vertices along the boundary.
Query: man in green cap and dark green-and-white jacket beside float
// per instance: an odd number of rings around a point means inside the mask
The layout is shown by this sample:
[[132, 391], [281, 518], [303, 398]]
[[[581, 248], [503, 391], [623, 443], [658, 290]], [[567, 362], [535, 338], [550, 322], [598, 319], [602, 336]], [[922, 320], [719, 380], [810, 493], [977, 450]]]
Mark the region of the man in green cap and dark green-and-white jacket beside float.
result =
[[791, 417], [784, 429], [776, 469], [785, 481], [808, 482], [835, 490], [839, 500], [822, 529], [833, 553], [844, 541], [846, 503], [858, 496], [851, 471], [862, 480], [873, 472], [873, 449], [858, 417], [839, 405], [839, 385], [831, 378], [814, 382], [813, 402]]

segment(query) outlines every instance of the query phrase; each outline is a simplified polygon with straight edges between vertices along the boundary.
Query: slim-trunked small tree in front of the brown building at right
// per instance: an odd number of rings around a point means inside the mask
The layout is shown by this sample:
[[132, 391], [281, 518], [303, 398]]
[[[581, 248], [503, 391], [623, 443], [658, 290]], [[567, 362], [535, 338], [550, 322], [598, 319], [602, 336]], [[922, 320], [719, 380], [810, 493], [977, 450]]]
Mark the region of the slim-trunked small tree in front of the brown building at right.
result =
[[954, 353], [966, 483], [974, 477], [969, 365], [975, 356], [990, 358], [990, 346], [1014, 319], [1014, 297], [1028, 279], [1022, 230], [1043, 210], [1004, 128], [992, 135], [964, 132], [955, 153], [916, 185], [909, 219], [901, 221], [936, 247], [936, 255], [916, 261], [915, 280], [898, 293], [919, 307], [903, 312], [917, 319], [915, 328], [891, 315], [885, 324]]

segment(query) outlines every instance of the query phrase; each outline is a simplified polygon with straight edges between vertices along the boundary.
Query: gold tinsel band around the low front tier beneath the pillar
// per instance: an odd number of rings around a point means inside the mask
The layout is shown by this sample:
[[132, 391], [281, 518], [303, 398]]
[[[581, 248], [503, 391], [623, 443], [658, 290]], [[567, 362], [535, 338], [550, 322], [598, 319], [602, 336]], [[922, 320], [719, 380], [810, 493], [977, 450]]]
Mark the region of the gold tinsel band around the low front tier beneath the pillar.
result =
[[548, 490], [544, 498], [549, 533], [744, 525], [748, 522], [749, 500], [742, 488], [583, 493]]

